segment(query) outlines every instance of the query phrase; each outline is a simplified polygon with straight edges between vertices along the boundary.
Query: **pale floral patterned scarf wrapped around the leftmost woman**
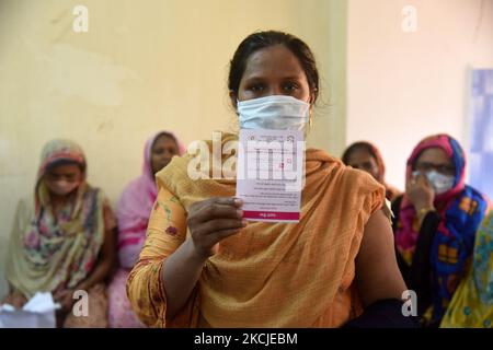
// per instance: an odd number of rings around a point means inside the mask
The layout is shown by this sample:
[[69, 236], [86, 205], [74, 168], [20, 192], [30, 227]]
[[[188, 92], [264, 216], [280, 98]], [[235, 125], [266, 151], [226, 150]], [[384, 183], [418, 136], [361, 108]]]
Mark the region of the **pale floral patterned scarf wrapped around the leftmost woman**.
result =
[[[44, 178], [59, 161], [80, 165], [83, 179], [55, 217]], [[105, 230], [105, 197], [85, 182], [85, 158], [72, 141], [45, 145], [33, 199], [18, 207], [5, 269], [10, 284], [26, 298], [77, 287], [95, 266]]]

